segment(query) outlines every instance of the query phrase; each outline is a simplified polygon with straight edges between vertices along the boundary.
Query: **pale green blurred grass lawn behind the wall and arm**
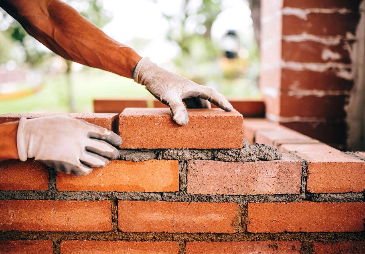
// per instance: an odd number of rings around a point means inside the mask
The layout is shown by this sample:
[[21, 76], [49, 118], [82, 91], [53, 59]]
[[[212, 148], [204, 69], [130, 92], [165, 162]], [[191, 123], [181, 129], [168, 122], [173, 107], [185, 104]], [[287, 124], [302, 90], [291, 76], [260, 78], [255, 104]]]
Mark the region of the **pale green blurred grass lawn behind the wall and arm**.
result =
[[[95, 98], [153, 98], [132, 79], [92, 68], [73, 73], [72, 83], [76, 112], [93, 112]], [[245, 79], [225, 81], [220, 90], [230, 98], [260, 98], [256, 84]], [[0, 101], [0, 114], [18, 112], [70, 112], [65, 75], [46, 76], [35, 94]]]

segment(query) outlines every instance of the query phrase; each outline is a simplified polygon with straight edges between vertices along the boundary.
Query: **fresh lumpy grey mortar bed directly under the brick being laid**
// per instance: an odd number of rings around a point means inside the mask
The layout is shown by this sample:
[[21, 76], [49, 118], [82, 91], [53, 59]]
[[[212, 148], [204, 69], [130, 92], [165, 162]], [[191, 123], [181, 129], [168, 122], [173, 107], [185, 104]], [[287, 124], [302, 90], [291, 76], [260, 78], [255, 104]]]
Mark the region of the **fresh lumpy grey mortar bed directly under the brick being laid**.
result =
[[273, 145], [250, 144], [243, 140], [241, 149], [120, 149], [119, 160], [135, 162], [149, 159], [166, 160], [220, 160], [225, 162], [252, 162], [281, 159], [280, 151]]

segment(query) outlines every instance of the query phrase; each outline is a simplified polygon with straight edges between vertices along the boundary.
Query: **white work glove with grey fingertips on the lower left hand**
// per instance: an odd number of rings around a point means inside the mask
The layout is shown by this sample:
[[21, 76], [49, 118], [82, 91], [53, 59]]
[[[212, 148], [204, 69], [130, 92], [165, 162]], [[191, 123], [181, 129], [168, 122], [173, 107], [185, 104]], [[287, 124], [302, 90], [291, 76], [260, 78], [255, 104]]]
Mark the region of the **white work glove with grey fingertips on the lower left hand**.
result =
[[59, 172], [87, 175], [108, 164], [107, 158], [118, 156], [113, 146], [122, 144], [122, 139], [85, 120], [47, 116], [21, 118], [16, 143], [22, 161], [34, 158]]

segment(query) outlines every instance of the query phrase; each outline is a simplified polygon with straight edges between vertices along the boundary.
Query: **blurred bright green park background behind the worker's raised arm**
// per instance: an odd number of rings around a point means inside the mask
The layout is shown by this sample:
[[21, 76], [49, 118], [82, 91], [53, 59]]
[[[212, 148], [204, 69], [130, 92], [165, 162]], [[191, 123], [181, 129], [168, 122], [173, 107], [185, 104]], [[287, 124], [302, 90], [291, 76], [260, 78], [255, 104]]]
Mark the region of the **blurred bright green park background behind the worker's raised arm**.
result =
[[[228, 98], [260, 98], [257, 37], [246, 0], [65, 2], [168, 70]], [[131, 79], [55, 55], [0, 9], [0, 114], [93, 112], [94, 98], [153, 97]]]

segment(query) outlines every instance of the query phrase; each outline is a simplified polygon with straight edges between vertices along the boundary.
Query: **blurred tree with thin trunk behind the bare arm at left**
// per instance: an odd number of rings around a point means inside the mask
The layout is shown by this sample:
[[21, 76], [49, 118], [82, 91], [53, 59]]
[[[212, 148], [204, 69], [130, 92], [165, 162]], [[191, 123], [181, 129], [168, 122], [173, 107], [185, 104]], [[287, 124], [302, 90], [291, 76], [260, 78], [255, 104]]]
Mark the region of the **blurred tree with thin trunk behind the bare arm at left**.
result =
[[[74, 7], [80, 14], [86, 17], [89, 21], [97, 25], [98, 27], [103, 27], [111, 20], [111, 13], [103, 9], [103, 3], [100, 0], [63, 0], [65, 3], [70, 4]], [[2, 16], [1, 21], [10, 20], [7, 27], [2, 27], [3, 36], [11, 38], [16, 44], [19, 44], [24, 50], [25, 57], [24, 62], [30, 64], [31, 68], [35, 68], [41, 65], [49, 57], [54, 56], [54, 53], [47, 51], [40, 51], [36, 45], [36, 41], [33, 37], [28, 35], [24, 28], [14, 19], [12, 19], [3, 9], [0, 9], [0, 16]], [[5, 25], [4, 25], [5, 26]], [[2, 48], [3, 50], [4, 48]], [[19, 50], [19, 49], [18, 49]], [[1, 51], [0, 51], [1, 54]], [[4, 55], [4, 54], [3, 54]], [[1, 55], [0, 55], [1, 56]], [[7, 58], [1, 57], [0, 60], [6, 60]], [[66, 61], [66, 80], [68, 82], [69, 88], [69, 107], [70, 111], [74, 112], [76, 110], [74, 97], [73, 97], [73, 86], [72, 86], [72, 63], [68, 60]]]

